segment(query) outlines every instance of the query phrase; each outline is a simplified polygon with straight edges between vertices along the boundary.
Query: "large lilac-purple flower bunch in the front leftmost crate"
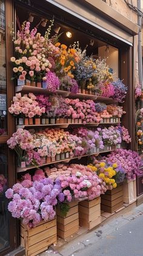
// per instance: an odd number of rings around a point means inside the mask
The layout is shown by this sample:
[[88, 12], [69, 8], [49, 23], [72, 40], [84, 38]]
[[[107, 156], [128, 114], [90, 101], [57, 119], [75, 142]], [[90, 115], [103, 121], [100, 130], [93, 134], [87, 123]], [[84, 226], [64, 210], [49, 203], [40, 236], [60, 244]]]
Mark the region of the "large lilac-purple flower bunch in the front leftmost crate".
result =
[[60, 193], [60, 183], [53, 183], [53, 180], [47, 178], [33, 182], [29, 188], [16, 183], [5, 192], [5, 196], [12, 199], [8, 210], [13, 218], [22, 218], [24, 224], [35, 227], [42, 219], [48, 221], [55, 218], [54, 207]]

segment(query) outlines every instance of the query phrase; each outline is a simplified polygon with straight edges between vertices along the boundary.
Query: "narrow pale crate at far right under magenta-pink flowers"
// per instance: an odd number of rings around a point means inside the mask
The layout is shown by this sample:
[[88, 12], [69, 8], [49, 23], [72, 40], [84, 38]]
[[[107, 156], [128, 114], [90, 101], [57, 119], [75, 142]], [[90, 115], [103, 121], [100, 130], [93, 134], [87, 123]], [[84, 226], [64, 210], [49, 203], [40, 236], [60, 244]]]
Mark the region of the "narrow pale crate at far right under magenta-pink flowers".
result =
[[136, 180], [127, 180], [123, 183], [123, 201], [126, 204], [136, 202]]

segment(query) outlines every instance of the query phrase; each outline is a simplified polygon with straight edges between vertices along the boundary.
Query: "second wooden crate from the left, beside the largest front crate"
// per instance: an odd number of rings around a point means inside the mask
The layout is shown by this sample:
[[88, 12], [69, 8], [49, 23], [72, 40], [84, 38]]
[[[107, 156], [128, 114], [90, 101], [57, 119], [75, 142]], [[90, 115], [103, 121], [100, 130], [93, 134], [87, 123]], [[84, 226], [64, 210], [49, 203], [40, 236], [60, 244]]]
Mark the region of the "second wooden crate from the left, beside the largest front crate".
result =
[[64, 239], [78, 232], [79, 229], [78, 202], [70, 202], [69, 205], [70, 209], [65, 217], [57, 209], [57, 234]]

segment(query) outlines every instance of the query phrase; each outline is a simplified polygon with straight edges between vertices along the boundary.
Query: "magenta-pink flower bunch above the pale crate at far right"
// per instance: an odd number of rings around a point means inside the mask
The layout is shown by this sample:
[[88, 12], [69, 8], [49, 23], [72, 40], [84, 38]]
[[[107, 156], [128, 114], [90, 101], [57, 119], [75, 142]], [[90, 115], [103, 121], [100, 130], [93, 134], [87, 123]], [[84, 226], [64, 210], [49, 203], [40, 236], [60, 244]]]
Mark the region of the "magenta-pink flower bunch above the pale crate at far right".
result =
[[111, 163], [117, 163], [121, 165], [122, 169], [125, 171], [125, 177], [128, 180], [135, 179], [136, 174], [139, 174], [139, 166], [141, 163], [141, 157], [135, 151], [130, 151], [127, 149], [118, 149], [111, 152], [108, 155], [107, 161]]

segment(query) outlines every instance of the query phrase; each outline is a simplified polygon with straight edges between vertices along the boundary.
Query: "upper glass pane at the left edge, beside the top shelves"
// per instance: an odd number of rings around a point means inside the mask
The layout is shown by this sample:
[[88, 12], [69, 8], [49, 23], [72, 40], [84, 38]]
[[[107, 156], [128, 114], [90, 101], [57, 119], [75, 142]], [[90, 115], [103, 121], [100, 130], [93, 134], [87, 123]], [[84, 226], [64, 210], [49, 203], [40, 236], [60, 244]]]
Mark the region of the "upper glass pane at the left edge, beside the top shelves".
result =
[[5, 1], [0, 0], [0, 136], [7, 134]]

